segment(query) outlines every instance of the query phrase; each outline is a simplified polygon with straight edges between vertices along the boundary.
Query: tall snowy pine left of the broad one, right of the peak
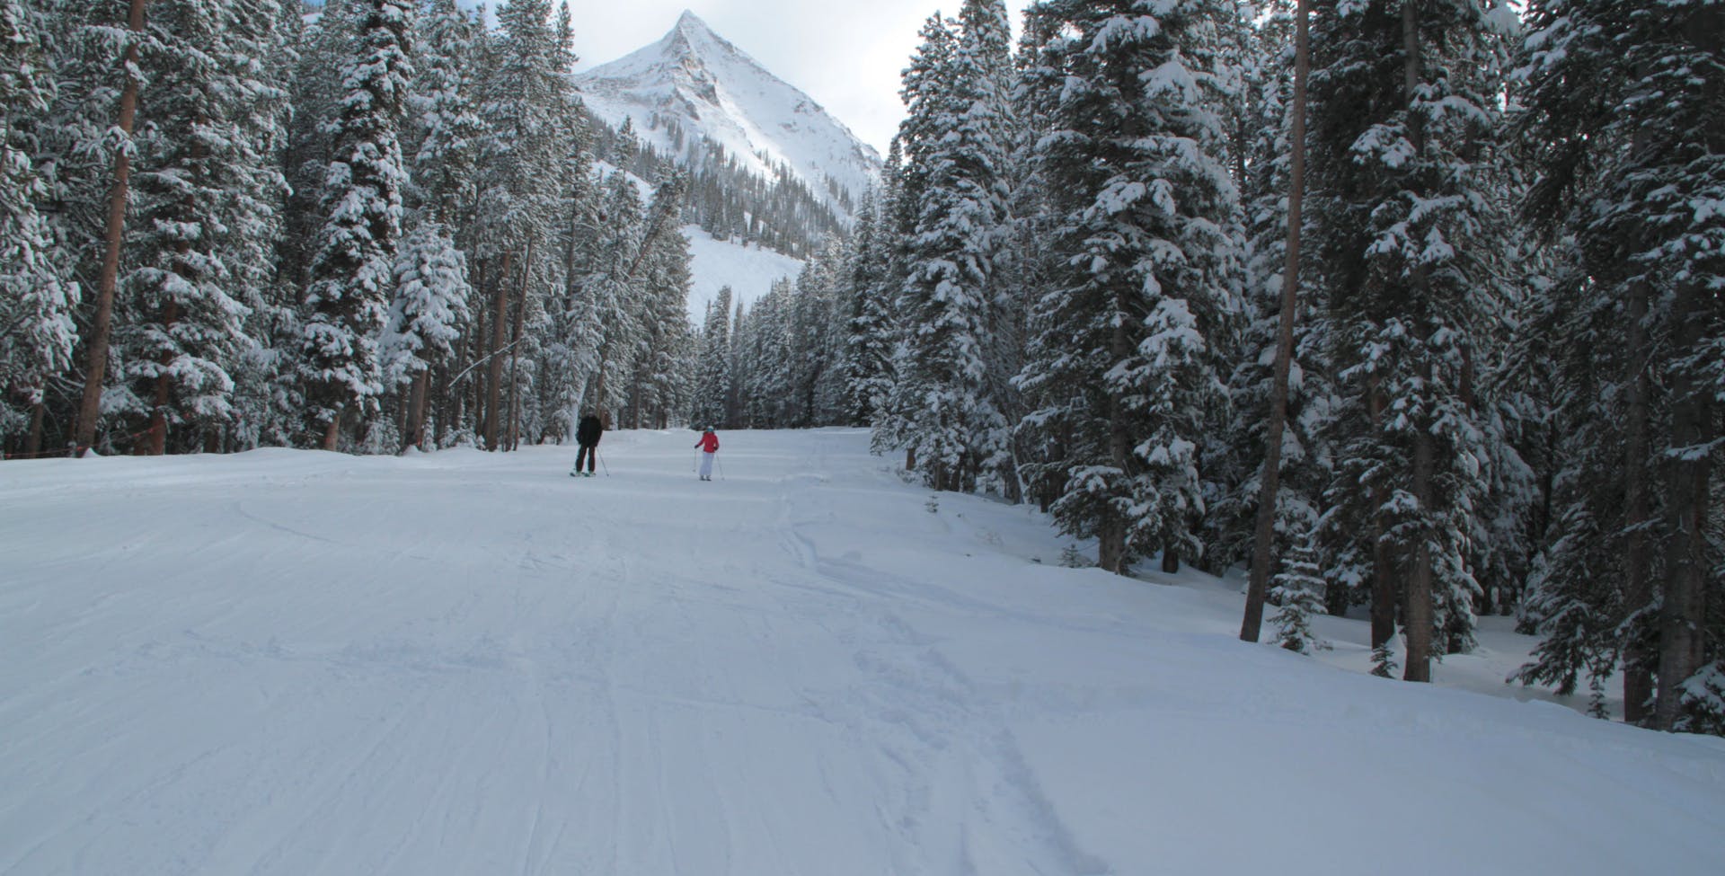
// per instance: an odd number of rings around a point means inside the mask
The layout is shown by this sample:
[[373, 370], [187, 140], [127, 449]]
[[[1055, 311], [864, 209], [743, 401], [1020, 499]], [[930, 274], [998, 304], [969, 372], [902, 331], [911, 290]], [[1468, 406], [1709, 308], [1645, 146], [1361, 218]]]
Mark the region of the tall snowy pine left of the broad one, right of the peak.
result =
[[[918, 62], [930, 67], [918, 71]], [[966, 0], [956, 40], [933, 28], [906, 74], [911, 117], [902, 136], [918, 185], [899, 305], [913, 326], [900, 374], [918, 391], [904, 438], [923, 483], [935, 490], [999, 490], [1016, 481], [1006, 405], [988, 379], [994, 333], [1004, 321], [995, 274], [1011, 221], [1011, 78], [1000, 0]]]

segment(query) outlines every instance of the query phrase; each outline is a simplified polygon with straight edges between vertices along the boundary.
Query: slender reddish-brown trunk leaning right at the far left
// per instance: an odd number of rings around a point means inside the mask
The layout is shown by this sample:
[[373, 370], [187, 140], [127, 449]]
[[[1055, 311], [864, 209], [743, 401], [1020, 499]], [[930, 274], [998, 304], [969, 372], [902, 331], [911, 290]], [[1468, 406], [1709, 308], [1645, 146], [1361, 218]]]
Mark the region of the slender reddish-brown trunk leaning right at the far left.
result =
[[107, 378], [109, 340], [114, 331], [114, 288], [119, 285], [119, 250], [126, 236], [126, 202], [131, 190], [131, 131], [138, 117], [138, 43], [143, 36], [143, 9], [147, 0], [131, 0], [126, 29], [133, 45], [126, 48], [126, 84], [119, 95], [117, 128], [124, 133], [121, 148], [114, 153], [114, 185], [109, 188], [107, 228], [102, 231], [102, 269], [97, 274], [97, 314], [90, 329], [90, 357], [85, 366], [85, 395], [78, 405], [74, 455], [83, 455], [97, 441], [97, 421], [102, 419], [102, 381]]

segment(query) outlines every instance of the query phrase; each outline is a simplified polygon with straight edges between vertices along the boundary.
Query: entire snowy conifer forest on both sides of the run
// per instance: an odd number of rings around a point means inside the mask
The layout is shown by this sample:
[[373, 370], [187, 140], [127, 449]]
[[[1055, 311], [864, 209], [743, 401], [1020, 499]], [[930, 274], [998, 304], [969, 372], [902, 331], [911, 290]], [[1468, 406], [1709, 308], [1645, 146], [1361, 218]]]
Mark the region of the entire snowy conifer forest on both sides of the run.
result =
[[[1518, 681], [1725, 731], [1722, 3], [964, 0], [854, 221], [583, 122], [545, 0], [0, 12], [16, 455], [869, 426], [1249, 566], [1242, 638], [1423, 681], [1515, 614]], [[807, 267], [692, 326], [690, 221]]]

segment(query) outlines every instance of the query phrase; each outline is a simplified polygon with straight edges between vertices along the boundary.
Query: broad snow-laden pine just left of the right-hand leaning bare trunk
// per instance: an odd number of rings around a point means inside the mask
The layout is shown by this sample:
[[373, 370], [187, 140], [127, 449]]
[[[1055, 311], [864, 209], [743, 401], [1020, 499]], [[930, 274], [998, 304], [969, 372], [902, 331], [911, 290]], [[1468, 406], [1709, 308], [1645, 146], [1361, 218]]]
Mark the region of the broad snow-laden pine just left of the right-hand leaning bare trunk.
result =
[[1226, 100], [1213, 2], [1047, 0], [1028, 88], [1049, 90], [1037, 162], [1059, 216], [1051, 288], [1032, 312], [1026, 426], [1059, 445], [1052, 510], [1125, 573], [1194, 555], [1197, 450], [1223, 404], [1239, 314], [1235, 188], [1213, 107]]

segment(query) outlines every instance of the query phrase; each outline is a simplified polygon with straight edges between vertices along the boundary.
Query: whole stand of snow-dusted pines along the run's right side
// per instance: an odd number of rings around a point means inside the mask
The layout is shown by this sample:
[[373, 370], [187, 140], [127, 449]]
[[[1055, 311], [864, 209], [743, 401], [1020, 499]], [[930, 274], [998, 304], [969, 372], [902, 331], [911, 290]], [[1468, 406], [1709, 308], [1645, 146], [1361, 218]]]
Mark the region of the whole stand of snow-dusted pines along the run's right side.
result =
[[1508, 614], [1542, 636], [1516, 681], [1725, 731], [1725, 7], [1314, 2], [1306, 52], [1297, 21], [930, 19], [881, 188], [709, 314], [697, 417], [869, 424], [1116, 573], [1261, 548], [1242, 638], [1359, 610], [1423, 681]]

